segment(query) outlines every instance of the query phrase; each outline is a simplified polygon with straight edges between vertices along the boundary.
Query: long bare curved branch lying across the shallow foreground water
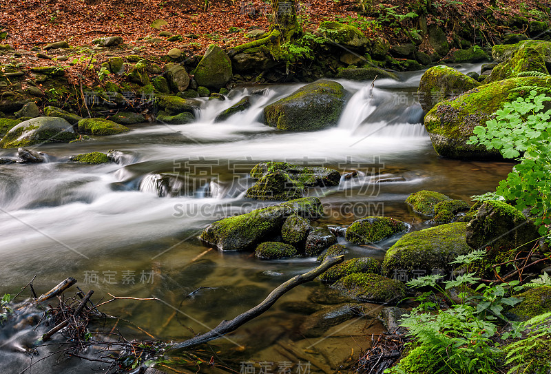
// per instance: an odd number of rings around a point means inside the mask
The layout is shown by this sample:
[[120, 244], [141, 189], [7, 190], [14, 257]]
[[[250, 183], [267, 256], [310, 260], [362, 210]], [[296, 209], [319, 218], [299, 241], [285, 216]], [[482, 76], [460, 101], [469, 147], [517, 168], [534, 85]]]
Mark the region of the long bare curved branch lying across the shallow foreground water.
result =
[[230, 320], [230, 321], [224, 320], [220, 322], [218, 326], [216, 326], [208, 333], [205, 333], [203, 335], [197, 335], [195, 337], [192, 337], [191, 339], [185, 340], [184, 342], [174, 344], [174, 346], [171, 346], [169, 350], [172, 351], [175, 349], [184, 349], [184, 348], [189, 348], [191, 346], [196, 346], [199, 344], [210, 342], [211, 340], [221, 337], [222, 335], [231, 333], [231, 331], [235, 331], [242, 324], [249, 322], [253, 318], [258, 317], [258, 315], [261, 315], [262, 313], [267, 311], [287, 291], [290, 291], [291, 289], [297, 287], [299, 284], [310, 282], [315, 277], [324, 273], [327, 269], [333, 267], [334, 265], [339, 264], [343, 260], [344, 260], [344, 256], [326, 258], [326, 260], [319, 267], [316, 267], [315, 269], [309, 271], [308, 273], [294, 276], [290, 280], [287, 280], [287, 282], [284, 282], [283, 284], [281, 284], [279, 287], [271, 291], [268, 297], [265, 298], [264, 301], [262, 301], [253, 309], [249, 309], [245, 313], [238, 315], [236, 318], [233, 318], [233, 320]]

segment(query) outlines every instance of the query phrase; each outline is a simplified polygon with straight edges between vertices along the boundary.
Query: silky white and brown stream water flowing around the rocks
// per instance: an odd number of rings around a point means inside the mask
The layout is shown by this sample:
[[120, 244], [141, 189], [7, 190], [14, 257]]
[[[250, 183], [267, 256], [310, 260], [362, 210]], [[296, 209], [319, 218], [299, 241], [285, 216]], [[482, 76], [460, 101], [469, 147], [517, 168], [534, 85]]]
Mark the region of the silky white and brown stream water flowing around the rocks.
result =
[[[478, 71], [479, 65], [460, 70]], [[107, 313], [131, 320], [158, 339], [183, 340], [208, 331], [315, 266], [313, 258], [266, 261], [251, 253], [222, 253], [197, 239], [214, 220], [273, 203], [244, 198], [254, 182], [248, 172], [264, 160], [359, 172], [338, 187], [309, 191], [324, 205], [320, 226], [344, 227], [363, 216], [384, 214], [412, 223], [413, 229], [427, 227], [404, 203], [411, 192], [432, 189], [468, 199], [494, 189], [511, 165], [439, 158], [414, 102], [421, 75], [403, 74], [400, 82], [377, 80], [373, 88], [371, 82], [340, 81], [349, 93], [340, 122], [318, 132], [279, 132], [260, 122], [267, 103], [300, 85], [260, 92], [243, 87], [225, 101], [204, 100], [195, 123], [134, 125], [132, 132], [118, 136], [43, 145], [38, 150], [48, 154], [47, 163], [0, 166], [0, 294], [17, 293], [34, 275], [39, 293], [72, 276], [85, 291], [94, 289], [94, 300], [110, 298], [107, 293], [159, 298], [105, 305]], [[251, 95], [249, 110], [214, 122], [245, 95]], [[71, 155], [109, 149], [118, 151], [117, 163], [67, 163]], [[14, 149], [0, 151], [2, 157], [14, 154]], [[395, 240], [355, 246], [339, 238], [350, 250], [347, 256], [379, 259]], [[339, 301], [333, 299], [318, 282], [304, 284], [216, 342], [218, 355], [295, 366], [302, 360], [313, 363], [312, 372], [333, 370], [365, 348], [371, 333], [382, 330], [373, 320], [380, 307], [366, 304], [366, 317], [331, 328], [324, 334], [329, 338], [304, 339], [300, 325], [310, 309]], [[128, 331], [143, 337], [131, 326]], [[8, 335], [0, 335], [9, 343], [0, 346], [0, 360], [10, 373], [19, 373], [30, 357]], [[38, 371], [82, 373], [81, 364], [69, 360], [52, 368], [49, 362]]]

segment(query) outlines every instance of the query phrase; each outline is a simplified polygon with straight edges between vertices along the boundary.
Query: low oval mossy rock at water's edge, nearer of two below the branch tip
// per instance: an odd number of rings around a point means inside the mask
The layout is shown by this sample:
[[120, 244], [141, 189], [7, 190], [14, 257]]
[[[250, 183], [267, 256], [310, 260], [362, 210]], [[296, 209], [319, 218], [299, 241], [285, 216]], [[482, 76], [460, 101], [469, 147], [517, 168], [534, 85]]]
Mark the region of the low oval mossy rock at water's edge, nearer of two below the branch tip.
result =
[[406, 296], [402, 282], [377, 274], [353, 273], [340, 278], [332, 287], [363, 302], [397, 304]]

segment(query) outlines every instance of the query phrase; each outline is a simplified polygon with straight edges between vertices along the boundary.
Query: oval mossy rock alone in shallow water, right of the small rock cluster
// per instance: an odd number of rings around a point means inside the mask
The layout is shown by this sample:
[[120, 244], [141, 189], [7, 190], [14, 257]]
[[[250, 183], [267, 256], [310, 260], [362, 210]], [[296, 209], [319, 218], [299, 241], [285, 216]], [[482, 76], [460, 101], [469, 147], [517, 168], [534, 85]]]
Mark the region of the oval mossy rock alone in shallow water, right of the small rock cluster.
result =
[[407, 231], [408, 226], [390, 217], [365, 217], [346, 229], [346, 240], [354, 244], [371, 244]]

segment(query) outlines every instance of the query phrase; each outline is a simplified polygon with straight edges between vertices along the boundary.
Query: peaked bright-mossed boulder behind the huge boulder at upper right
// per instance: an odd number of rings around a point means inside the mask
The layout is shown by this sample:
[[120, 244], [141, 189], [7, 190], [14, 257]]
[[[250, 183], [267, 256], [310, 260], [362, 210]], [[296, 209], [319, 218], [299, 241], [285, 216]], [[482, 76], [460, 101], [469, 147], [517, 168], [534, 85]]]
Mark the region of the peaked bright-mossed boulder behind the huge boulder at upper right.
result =
[[484, 80], [484, 83], [514, 78], [523, 72], [549, 74], [545, 67], [544, 56], [536, 48], [521, 45], [521, 48], [514, 52], [510, 59], [499, 63], [492, 69], [492, 73]]

